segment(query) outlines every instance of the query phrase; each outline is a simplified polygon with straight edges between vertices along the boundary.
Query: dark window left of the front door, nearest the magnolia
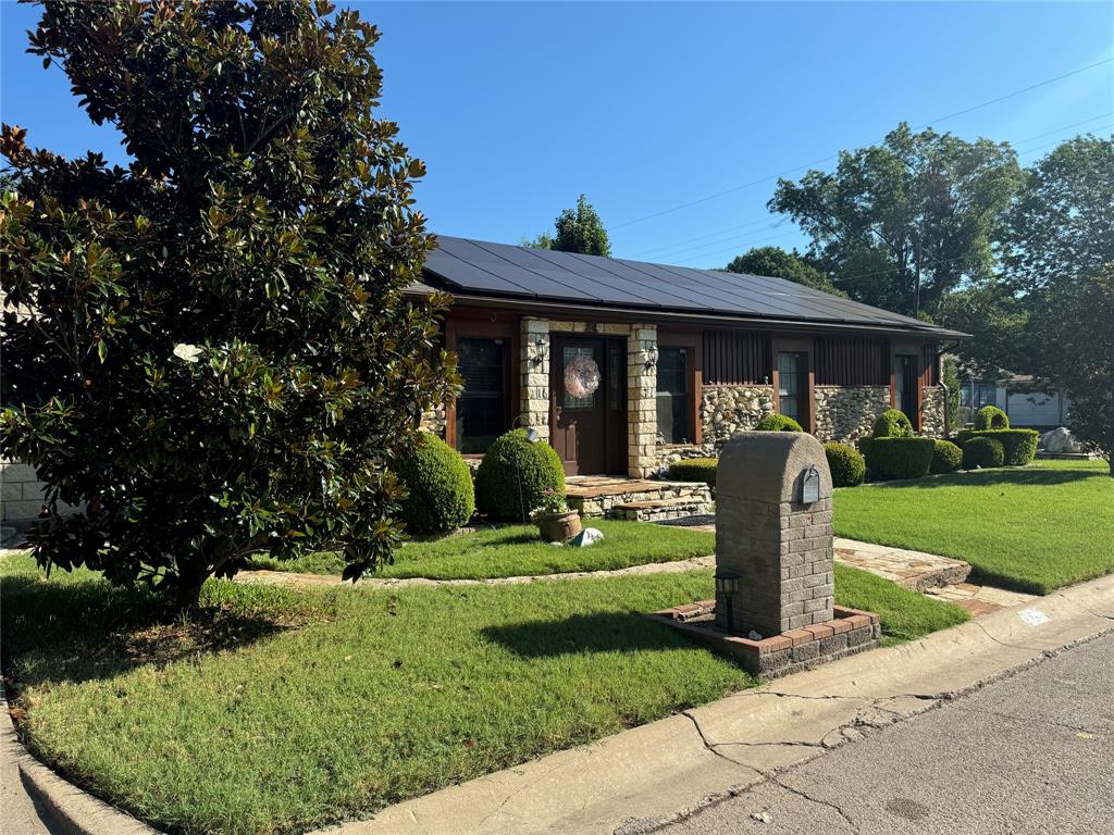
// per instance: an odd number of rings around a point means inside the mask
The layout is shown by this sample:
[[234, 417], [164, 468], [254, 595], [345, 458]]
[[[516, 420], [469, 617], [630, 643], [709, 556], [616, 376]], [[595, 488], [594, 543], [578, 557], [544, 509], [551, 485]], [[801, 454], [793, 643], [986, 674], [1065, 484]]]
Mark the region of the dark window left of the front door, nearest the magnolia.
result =
[[507, 426], [507, 341], [461, 336], [458, 370], [465, 390], [457, 397], [457, 446], [486, 452]]

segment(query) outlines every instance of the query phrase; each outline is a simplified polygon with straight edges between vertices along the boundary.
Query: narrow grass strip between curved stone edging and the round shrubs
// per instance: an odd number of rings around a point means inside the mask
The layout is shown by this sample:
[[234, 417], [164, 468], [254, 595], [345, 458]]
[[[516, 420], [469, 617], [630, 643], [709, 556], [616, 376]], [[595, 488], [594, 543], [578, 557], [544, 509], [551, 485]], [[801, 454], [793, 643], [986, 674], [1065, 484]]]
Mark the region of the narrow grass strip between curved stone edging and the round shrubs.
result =
[[[567, 571], [613, 571], [649, 562], [673, 562], [715, 553], [715, 534], [686, 528], [590, 519], [604, 540], [588, 548], [544, 542], [532, 524], [480, 528], [432, 541], [412, 541], [398, 550], [394, 564], [374, 577], [428, 577], [471, 580]], [[294, 560], [257, 557], [253, 568], [302, 573], [340, 574], [336, 553], [311, 553]]]

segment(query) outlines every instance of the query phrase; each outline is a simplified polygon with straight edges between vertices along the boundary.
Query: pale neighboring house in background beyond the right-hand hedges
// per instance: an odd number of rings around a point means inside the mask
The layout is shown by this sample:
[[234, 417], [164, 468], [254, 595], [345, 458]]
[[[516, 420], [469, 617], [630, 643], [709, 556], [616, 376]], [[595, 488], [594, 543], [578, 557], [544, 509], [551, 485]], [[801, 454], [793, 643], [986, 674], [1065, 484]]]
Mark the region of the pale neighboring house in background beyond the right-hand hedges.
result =
[[959, 372], [960, 421], [969, 423], [983, 406], [997, 406], [1009, 425], [1056, 429], [1067, 420], [1071, 405], [1063, 390], [1026, 374], [999, 370], [994, 374]]

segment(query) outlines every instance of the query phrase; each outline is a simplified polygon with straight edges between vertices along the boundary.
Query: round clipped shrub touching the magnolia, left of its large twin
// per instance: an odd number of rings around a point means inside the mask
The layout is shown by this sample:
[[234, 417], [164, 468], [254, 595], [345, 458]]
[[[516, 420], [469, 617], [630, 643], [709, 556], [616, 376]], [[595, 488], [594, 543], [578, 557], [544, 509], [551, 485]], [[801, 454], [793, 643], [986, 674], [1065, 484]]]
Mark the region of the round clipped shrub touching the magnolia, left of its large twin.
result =
[[472, 474], [460, 453], [440, 438], [421, 432], [394, 462], [407, 485], [401, 518], [410, 533], [440, 533], [465, 524], [476, 511]]

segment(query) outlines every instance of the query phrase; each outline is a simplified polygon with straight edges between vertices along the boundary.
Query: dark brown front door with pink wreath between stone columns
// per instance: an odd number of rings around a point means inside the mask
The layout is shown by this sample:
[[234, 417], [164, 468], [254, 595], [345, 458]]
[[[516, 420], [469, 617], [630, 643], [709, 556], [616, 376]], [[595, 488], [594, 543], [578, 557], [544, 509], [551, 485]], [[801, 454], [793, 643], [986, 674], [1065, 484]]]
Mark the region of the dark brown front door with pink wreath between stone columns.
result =
[[[599, 375], [590, 393], [566, 380], [570, 364]], [[568, 475], [626, 474], [626, 344], [603, 337], [555, 336], [550, 362], [553, 445]]]

